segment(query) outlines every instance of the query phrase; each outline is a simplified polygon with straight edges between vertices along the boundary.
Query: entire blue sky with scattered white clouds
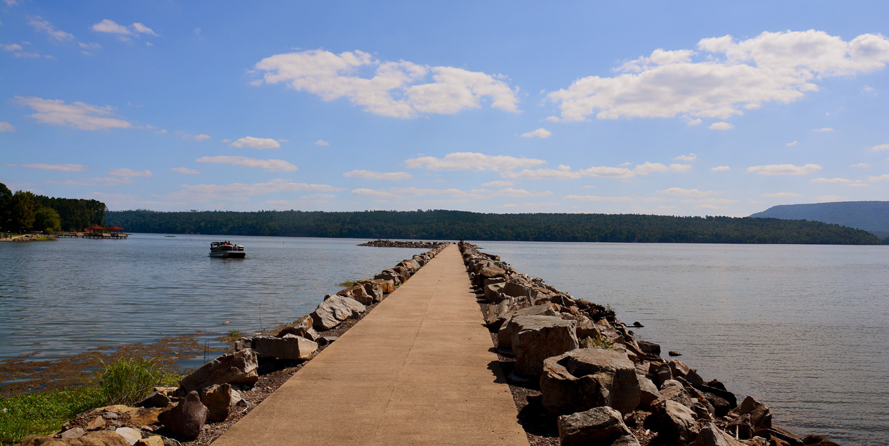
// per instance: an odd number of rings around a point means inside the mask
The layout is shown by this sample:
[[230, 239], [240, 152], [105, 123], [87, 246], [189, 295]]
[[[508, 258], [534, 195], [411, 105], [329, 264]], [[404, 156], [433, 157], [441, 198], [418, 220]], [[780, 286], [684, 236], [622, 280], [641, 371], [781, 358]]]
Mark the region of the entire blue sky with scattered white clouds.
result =
[[0, 2], [0, 182], [112, 211], [889, 199], [889, 3]]

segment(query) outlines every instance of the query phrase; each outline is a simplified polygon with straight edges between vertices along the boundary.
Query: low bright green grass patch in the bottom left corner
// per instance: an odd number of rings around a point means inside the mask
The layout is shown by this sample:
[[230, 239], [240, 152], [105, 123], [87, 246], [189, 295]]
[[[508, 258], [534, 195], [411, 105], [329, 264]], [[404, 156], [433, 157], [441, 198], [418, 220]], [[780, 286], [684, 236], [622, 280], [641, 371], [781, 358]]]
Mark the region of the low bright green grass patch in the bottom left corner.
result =
[[28, 435], [52, 434], [76, 414], [103, 405], [98, 387], [0, 398], [0, 445], [15, 444]]

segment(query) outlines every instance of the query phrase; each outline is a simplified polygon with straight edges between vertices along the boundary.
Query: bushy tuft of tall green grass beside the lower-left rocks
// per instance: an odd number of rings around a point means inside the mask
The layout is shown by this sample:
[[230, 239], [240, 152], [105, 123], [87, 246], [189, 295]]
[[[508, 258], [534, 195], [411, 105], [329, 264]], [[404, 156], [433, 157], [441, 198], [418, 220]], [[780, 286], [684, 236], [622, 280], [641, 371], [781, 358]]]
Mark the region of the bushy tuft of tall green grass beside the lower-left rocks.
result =
[[173, 385], [179, 378], [155, 361], [121, 358], [106, 364], [99, 376], [99, 387], [107, 404], [132, 405], [148, 396], [154, 386]]

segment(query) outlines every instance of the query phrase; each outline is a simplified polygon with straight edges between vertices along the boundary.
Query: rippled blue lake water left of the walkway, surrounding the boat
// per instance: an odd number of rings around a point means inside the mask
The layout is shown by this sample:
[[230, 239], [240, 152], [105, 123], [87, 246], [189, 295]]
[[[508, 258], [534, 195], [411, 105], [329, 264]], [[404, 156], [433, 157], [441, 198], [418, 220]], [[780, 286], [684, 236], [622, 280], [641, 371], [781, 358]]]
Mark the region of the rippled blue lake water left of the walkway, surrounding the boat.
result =
[[[210, 258], [210, 242], [223, 238], [244, 245], [247, 259]], [[136, 234], [0, 243], [0, 360], [268, 329], [308, 315], [337, 283], [371, 278], [423, 251], [356, 246], [363, 242]]]

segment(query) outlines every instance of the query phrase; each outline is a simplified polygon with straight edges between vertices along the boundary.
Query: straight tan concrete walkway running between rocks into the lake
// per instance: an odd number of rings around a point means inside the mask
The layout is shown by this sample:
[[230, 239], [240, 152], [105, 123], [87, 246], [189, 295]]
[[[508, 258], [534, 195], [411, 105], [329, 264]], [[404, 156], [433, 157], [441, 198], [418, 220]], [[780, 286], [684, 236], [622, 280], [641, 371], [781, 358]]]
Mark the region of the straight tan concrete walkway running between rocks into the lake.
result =
[[214, 446], [524, 444], [450, 245]]

